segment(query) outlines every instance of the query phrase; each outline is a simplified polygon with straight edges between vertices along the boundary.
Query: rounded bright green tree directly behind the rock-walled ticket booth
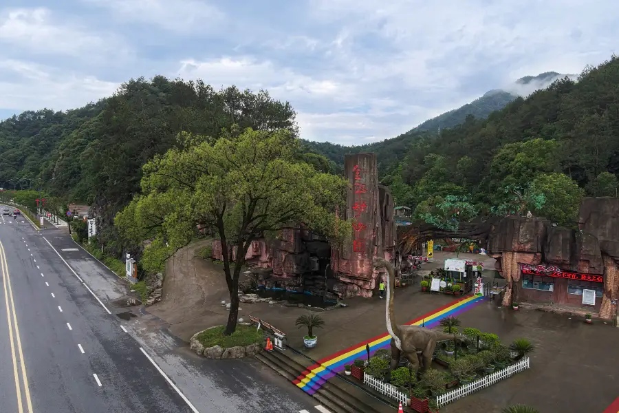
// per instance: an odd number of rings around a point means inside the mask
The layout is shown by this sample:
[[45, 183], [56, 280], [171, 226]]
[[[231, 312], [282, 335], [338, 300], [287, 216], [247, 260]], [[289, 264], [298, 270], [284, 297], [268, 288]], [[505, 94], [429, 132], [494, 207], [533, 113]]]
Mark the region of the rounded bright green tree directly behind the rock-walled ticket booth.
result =
[[531, 190], [541, 193], [545, 202], [534, 213], [559, 225], [576, 225], [578, 207], [585, 191], [565, 173], [544, 173], [533, 180]]

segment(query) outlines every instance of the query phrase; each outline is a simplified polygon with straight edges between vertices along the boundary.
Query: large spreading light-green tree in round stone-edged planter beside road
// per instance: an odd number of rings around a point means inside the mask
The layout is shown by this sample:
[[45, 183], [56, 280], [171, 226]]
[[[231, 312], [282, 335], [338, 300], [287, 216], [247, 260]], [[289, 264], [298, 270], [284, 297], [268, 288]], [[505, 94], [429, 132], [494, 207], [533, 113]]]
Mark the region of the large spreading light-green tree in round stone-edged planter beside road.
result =
[[142, 259], [147, 271], [198, 228], [219, 235], [231, 304], [226, 335], [237, 325], [239, 276], [253, 240], [295, 223], [336, 245], [351, 235], [351, 225], [334, 213], [345, 205], [347, 180], [299, 162], [298, 147], [287, 129], [233, 128], [218, 140], [181, 134], [177, 147], [144, 165], [142, 195], [116, 216], [124, 236], [152, 240]]

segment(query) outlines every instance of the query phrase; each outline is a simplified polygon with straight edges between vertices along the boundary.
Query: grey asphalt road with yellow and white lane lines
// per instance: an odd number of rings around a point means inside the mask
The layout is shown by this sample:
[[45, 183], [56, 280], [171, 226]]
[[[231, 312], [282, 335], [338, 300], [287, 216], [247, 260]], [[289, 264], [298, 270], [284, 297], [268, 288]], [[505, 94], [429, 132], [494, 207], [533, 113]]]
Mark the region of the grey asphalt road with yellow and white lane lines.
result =
[[63, 230], [1, 217], [0, 263], [0, 412], [326, 412], [255, 362], [192, 357]]

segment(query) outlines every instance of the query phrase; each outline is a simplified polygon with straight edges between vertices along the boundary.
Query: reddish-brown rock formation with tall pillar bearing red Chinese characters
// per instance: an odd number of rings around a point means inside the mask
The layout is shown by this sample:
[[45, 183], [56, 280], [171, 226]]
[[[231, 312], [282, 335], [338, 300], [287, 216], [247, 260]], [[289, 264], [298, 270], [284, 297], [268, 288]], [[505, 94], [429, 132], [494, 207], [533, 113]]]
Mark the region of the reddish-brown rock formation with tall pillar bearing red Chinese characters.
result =
[[[353, 239], [343, 248], [332, 248], [323, 237], [298, 226], [281, 231], [274, 240], [256, 240], [246, 260], [260, 285], [327, 298], [372, 296], [379, 277], [373, 257], [392, 260], [395, 250], [393, 197], [378, 183], [374, 153], [347, 155], [345, 177], [350, 187], [340, 218], [353, 221]], [[223, 259], [219, 241], [213, 242], [213, 259]]]

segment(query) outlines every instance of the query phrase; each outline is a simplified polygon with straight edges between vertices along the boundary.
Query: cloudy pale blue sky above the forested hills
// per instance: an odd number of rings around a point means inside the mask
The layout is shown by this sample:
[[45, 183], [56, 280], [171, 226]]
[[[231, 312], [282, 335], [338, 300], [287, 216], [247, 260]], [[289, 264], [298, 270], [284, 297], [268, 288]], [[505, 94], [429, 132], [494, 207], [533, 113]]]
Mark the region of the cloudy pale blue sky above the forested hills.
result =
[[602, 63], [617, 16], [616, 0], [2, 0], [0, 118], [162, 74], [267, 89], [301, 138], [361, 145]]

